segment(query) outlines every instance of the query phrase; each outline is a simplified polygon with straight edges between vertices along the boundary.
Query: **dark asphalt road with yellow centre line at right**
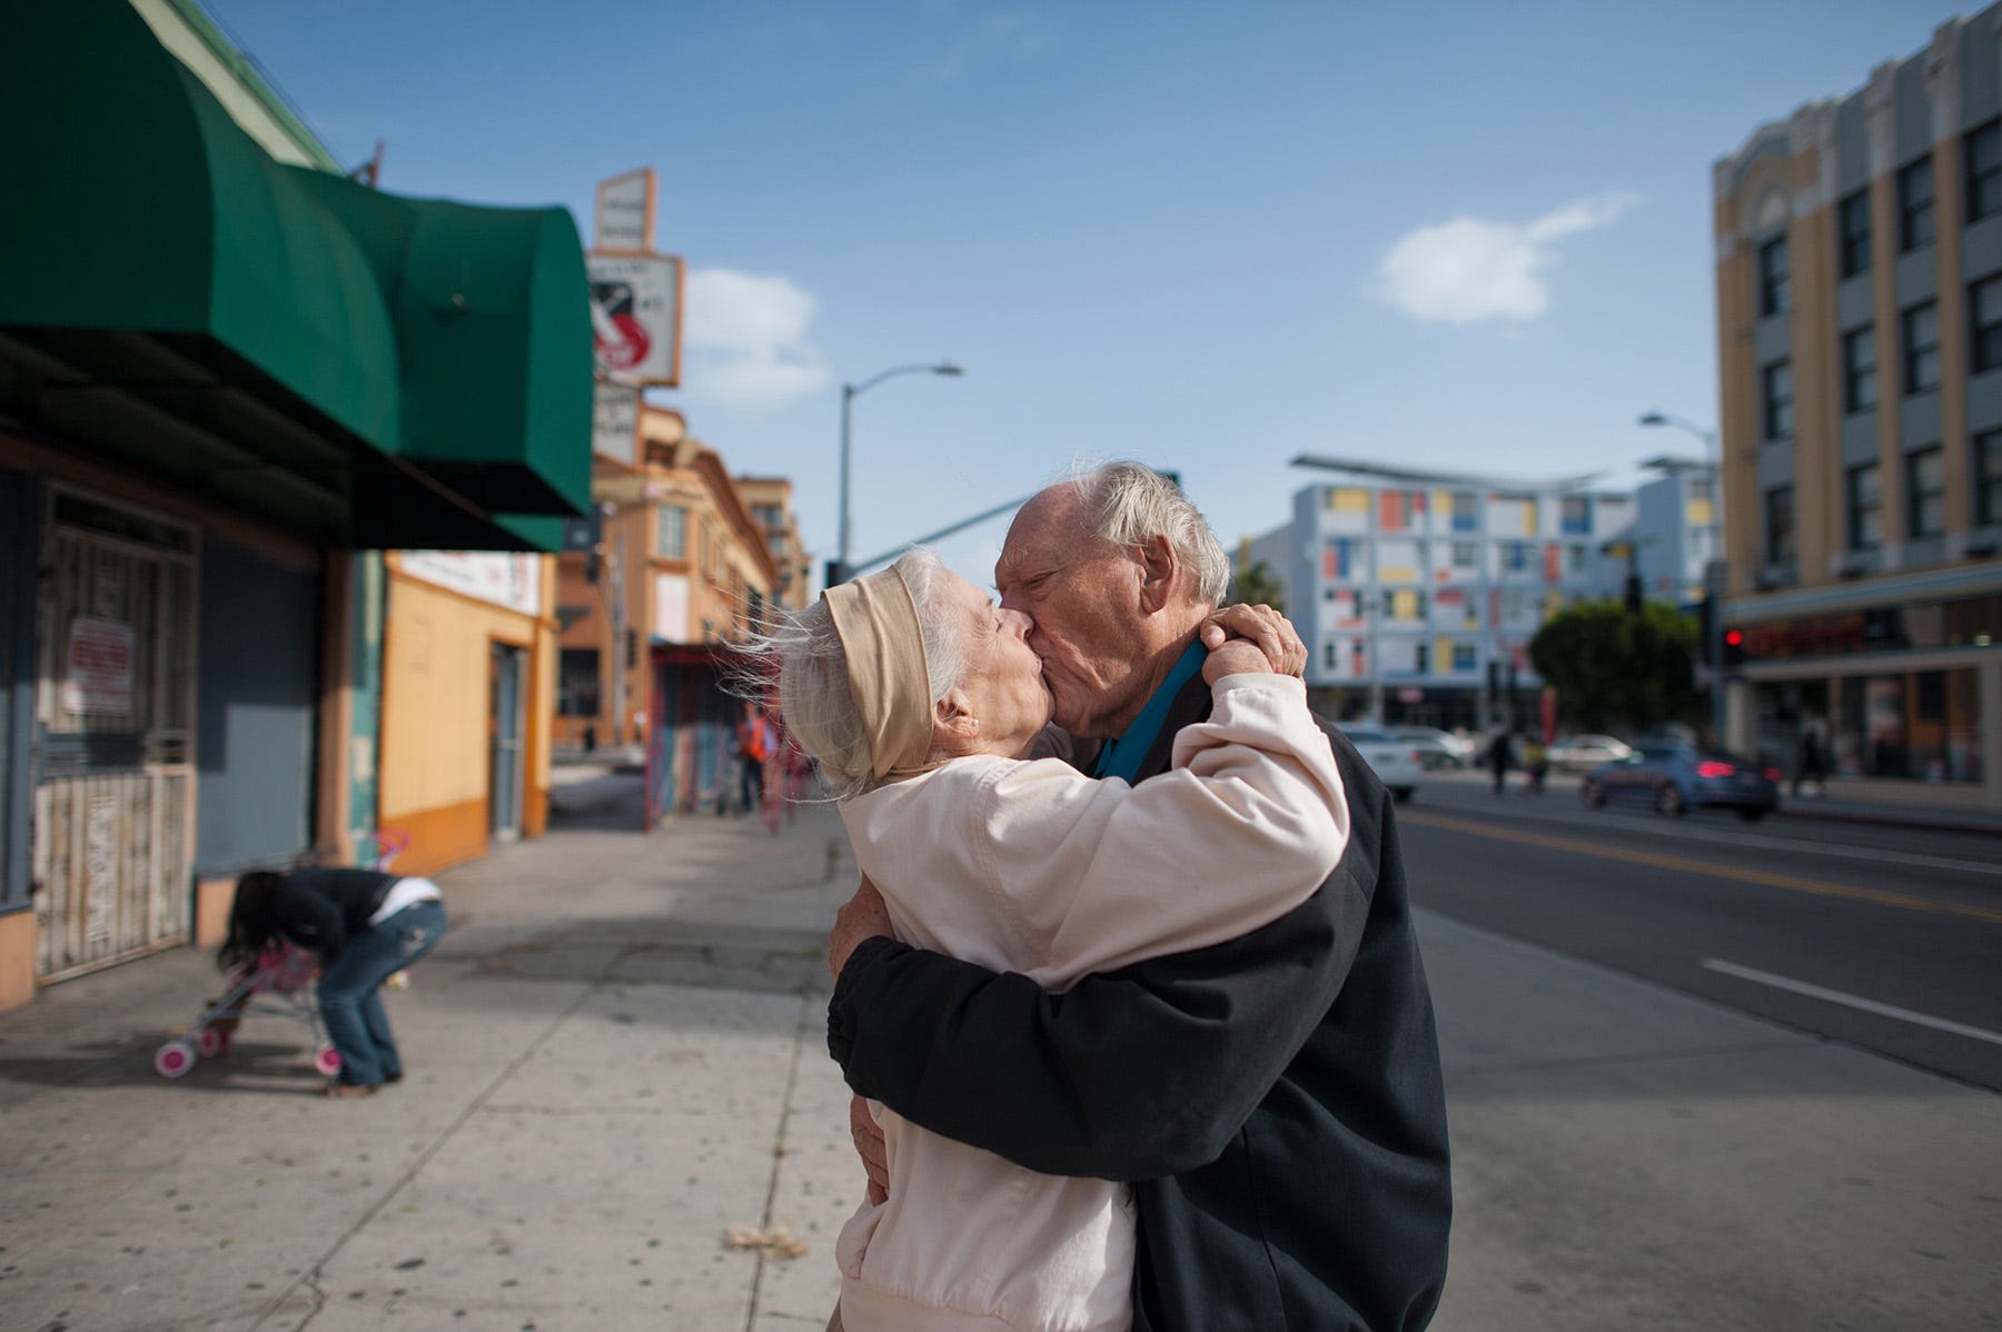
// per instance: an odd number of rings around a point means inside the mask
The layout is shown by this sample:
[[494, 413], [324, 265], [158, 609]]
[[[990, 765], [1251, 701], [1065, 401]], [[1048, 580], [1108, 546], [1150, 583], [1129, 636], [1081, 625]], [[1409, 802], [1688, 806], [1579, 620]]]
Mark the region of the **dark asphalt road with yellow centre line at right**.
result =
[[1423, 908], [2002, 1090], [2002, 840], [1588, 810], [1433, 774], [1399, 814]]

